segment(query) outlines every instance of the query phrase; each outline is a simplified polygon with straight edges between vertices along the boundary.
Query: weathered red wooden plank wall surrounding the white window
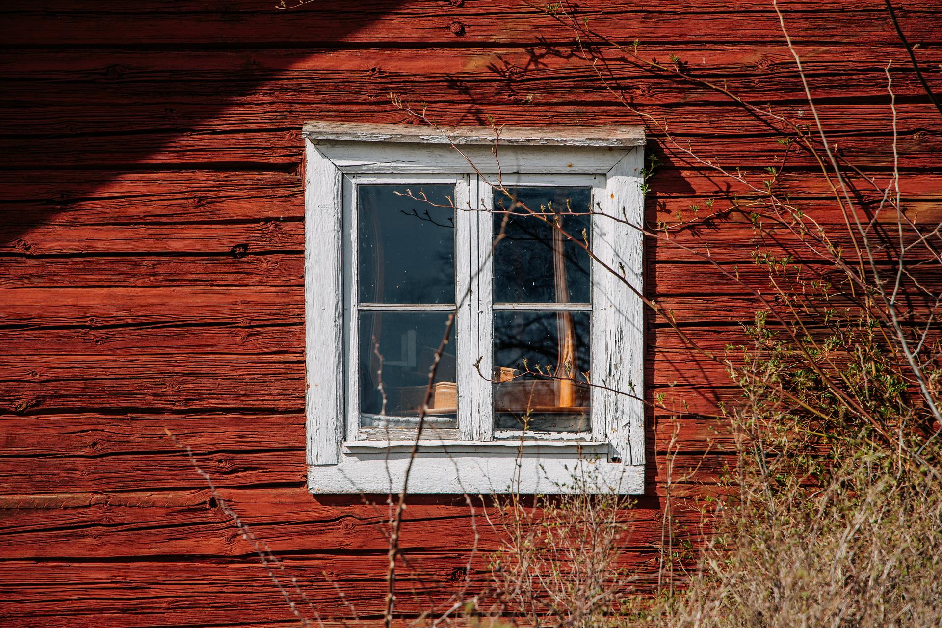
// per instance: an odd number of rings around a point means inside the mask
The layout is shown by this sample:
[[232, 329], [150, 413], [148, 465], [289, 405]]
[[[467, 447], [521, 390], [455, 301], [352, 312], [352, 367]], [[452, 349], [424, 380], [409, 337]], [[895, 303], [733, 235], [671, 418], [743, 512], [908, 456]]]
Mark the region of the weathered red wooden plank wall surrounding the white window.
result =
[[[642, 123], [574, 56], [572, 32], [522, 0], [275, 4], [0, 6], [3, 625], [294, 621], [165, 428], [192, 446], [322, 617], [375, 624], [386, 507], [304, 486], [303, 121], [404, 121], [388, 99], [395, 91], [454, 123]], [[641, 40], [642, 56], [676, 54], [750, 102], [810, 120], [771, 3], [579, 4], [593, 29]], [[883, 2], [782, 6], [827, 128], [881, 181], [892, 164], [884, 68], [893, 60], [903, 194], [919, 220], [939, 222], [942, 119]], [[898, 12], [942, 87], [942, 4], [901, 0]], [[694, 150], [756, 182], [777, 164], [775, 135], [723, 95], [614, 67], [625, 95]], [[649, 133], [660, 160], [652, 221], [742, 193]], [[820, 220], [838, 220], [811, 159], [792, 163], [782, 189], [811, 207], [822, 199]], [[709, 242], [715, 259], [761, 284], [744, 222], [678, 238]], [[746, 290], [672, 246], [652, 244], [647, 256], [649, 296], [692, 337], [712, 348], [741, 339], [737, 321], [757, 307]], [[690, 407], [650, 417], [647, 493], [626, 515], [625, 565], [639, 588], [658, 579], [669, 462], [674, 533], [699, 542], [683, 500], [716, 490], [730, 451], [709, 415], [735, 397], [722, 369], [662, 320], [648, 333], [649, 395]], [[476, 514], [462, 499], [414, 500], [403, 545], [421, 573], [404, 579], [403, 611], [454, 592], [476, 537], [482, 550], [495, 546]], [[472, 581], [486, 579], [486, 563], [472, 564]]]

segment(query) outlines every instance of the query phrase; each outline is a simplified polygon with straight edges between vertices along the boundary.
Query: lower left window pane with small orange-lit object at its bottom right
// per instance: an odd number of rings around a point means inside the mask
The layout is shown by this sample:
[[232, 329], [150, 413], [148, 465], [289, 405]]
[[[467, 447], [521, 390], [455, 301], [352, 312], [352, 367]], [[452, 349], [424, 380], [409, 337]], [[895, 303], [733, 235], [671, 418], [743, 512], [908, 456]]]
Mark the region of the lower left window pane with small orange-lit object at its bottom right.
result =
[[[442, 344], [447, 312], [360, 313], [361, 425], [414, 425], [429, 385], [431, 362]], [[458, 387], [454, 330], [436, 371], [430, 425], [455, 427]]]

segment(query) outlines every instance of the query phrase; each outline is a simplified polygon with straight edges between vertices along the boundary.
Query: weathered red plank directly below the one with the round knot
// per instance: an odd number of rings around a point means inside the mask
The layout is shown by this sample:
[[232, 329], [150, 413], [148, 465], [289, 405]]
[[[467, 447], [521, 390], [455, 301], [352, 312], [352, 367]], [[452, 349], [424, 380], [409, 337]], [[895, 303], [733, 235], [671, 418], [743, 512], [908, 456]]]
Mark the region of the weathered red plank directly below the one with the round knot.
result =
[[[250, 0], [252, 1], [252, 0]], [[933, 0], [925, 0], [932, 3]], [[687, 4], [687, 3], [685, 3]], [[780, 3], [781, 4], [781, 3]], [[835, 3], [836, 4], [836, 3]], [[763, 8], [767, 8], [763, 5]], [[6, 8], [6, 7], [4, 7]], [[256, 5], [257, 8], [257, 5]], [[636, 5], [629, 5], [637, 8]], [[2, 11], [3, 8], [0, 8]], [[159, 8], [157, 9], [159, 10]], [[865, 72], [881, 72], [887, 60], [893, 59], [890, 68], [894, 73], [906, 73], [905, 51], [896, 42], [881, 45], [873, 42], [866, 48], [840, 44], [797, 44], [795, 52], [801, 56], [805, 72], [811, 77], [825, 73], [855, 75]], [[625, 54], [617, 48], [600, 45], [596, 54], [605, 56], [619, 66]], [[55, 84], [66, 88], [79, 83], [85, 89], [89, 84], [119, 86], [125, 83], [166, 82], [187, 80], [219, 82], [223, 80], [252, 84], [260, 80], [259, 89], [277, 89], [281, 81], [293, 81], [327, 75], [327, 72], [344, 72], [345, 78], [359, 78], [370, 74], [382, 78], [389, 74], [403, 76], [466, 75], [486, 76], [493, 74], [509, 79], [526, 80], [530, 76], [548, 75], [554, 72], [577, 69], [585, 64], [579, 56], [566, 55], [571, 48], [558, 48], [549, 43], [545, 46], [462, 46], [458, 48], [411, 47], [404, 55], [402, 48], [373, 47], [368, 44], [337, 48], [335, 46], [304, 48], [258, 47], [247, 50], [216, 50], [213, 48], [151, 49], [134, 48], [86, 48], [75, 54], [68, 48], [56, 48], [49, 42], [42, 48], [11, 49], [0, 58], [0, 77], [29, 80], [41, 95], [44, 87]], [[743, 76], [750, 72], [756, 75], [775, 77], [779, 72], [793, 72], [795, 60], [782, 41], [755, 43], [700, 42], [690, 45], [682, 42], [662, 44], [645, 41], [639, 46], [638, 56], [643, 59], [667, 59], [676, 55], [690, 65], [697, 76]], [[918, 59], [924, 63], [923, 72], [938, 72], [934, 64], [942, 61], [942, 51], [920, 47]], [[897, 60], [901, 63], [897, 65]], [[908, 61], [907, 61], [908, 62]], [[625, 64], [627, 65], [627, 64]], [[584, 68], [588, 69], [588, 67]], [[590, 71], [591, 72], [591, 71]], [[632, 72], [625, 67], [625, 72]], [[573, 74], [576, 78], [581, 74]], [[591, 75], [595, 75], [594, 72]], [[639, 76], [651, 76], [645, 72]], [[48, 85], [52, 88], [52, 85]], [[193, 89], [202, 89], [190, 86]], [[761, 86], [752, 86], [762, 89]], [[833, 87], [833, 86], [832, 86]], [[219, 85], [219, 89], [227, 86]], [[187, 92], [182, 92], [187, 93]], [[153, 97], [153, 94], [151, 94]], [[780, 96], [776, 95], [778, 98]], [[308, 94], [309, 98], [320, 97]]]

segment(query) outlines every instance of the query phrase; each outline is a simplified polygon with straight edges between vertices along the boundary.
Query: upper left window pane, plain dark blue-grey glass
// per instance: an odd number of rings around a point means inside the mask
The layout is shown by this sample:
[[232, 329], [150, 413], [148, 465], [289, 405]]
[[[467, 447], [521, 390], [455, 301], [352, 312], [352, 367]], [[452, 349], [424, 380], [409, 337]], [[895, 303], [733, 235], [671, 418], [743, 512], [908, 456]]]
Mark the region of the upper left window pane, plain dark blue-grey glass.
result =
[[357, 187], [361, 303], [455, 302], [454, 194], [454, 185]]

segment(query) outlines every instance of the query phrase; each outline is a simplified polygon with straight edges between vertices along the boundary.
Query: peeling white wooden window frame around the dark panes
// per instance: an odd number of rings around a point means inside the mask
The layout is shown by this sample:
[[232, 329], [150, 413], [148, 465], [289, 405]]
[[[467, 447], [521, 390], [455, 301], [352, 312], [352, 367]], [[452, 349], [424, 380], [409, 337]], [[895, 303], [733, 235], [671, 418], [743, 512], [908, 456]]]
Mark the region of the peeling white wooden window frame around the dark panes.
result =
[[[455, 181], [455, 205], [484, 210], [455, 216], [456, 222], [477, 220], [474, 229], [456, 230], [468, 235], [456, 241], [456, 294], [470, 295], [459, 303], [455, 323], [459, 427], [451, 437], [423, 432], [408, 491], [642, 493], [643, 310], [635, 291], [643, 290], [643, 240], [640, 229], [610, 218], [642, 225], [642, 128], [505, 127], [498, 139], [487, 127], [445, 132], [415, 125], [308, 122], [303, 137], [308, 490], [398, 492], [414, 446], [414, 439], [366, 434], [358, 409], [347, 402], [347, 374], [357, 359], [346, 329], [355, 318], [346, 310], [355, 305], [345, 279], [351, 260], [344, 258], [355, 249], [355, 243], [345, 243], [352, 236], [345, 225], [353, 185]], [[624, 281], [592, 262], [591, 433], [529, 434], [526, 439], [495, 433], [491, 384], [461, 359], [481, 357], [480, 372], [491, 371], [491, 348], [480, 346], [479, 330], [490, 329], [493, 312], [493, 269], [482, 252], [492, 246], [493, 220], [478, 216], [491, 216], [488, 182], [498, 180], [593, 188], [598, 210], [592, 218], [593, 254]], [[485, 267], [475, 277], [469, 265], [479, 260]], [[463, 278], [470, 278], [471, 285]], [[574, 476], [590, 481], [574, 482]]]

